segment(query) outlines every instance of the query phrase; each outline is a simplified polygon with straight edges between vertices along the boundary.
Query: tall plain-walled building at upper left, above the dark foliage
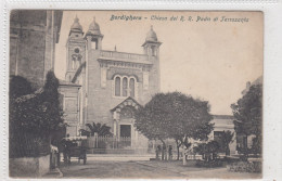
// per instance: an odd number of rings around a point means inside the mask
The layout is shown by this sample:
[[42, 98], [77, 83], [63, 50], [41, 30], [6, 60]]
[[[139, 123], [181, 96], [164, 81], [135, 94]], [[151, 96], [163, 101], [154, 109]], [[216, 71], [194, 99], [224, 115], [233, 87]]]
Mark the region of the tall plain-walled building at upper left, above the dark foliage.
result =
[[10, 75], [25, 77], [35, 88], [43, 86], [54, 69], [62, 11], [13, 10], [10, 18]]

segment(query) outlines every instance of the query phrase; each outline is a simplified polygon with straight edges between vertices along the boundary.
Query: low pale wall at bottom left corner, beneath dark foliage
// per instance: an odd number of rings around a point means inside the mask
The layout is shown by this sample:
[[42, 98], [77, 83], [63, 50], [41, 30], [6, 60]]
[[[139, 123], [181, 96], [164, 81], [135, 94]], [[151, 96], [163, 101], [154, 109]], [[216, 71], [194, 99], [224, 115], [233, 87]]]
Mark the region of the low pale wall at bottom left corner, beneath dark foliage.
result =
[[9, 172], [12, 178], [38, 178], [50, 170], [50, 155], [9, 159]]

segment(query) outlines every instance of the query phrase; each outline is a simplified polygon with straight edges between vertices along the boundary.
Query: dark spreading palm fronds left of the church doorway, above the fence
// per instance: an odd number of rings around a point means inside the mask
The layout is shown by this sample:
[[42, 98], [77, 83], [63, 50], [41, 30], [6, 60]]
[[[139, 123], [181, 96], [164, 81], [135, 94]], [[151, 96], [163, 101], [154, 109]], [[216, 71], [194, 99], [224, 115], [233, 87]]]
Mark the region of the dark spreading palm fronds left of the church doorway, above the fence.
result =
[[110, 131], [111, 127], [106, 126], [105, 124], [86, 124], [89, 130], [80, 129], [80, 132], [82, 135], [94, 135], [94, 133], [98, 133], [98, 135], [112, 135], [113, 133]]

